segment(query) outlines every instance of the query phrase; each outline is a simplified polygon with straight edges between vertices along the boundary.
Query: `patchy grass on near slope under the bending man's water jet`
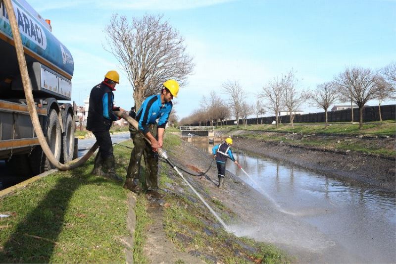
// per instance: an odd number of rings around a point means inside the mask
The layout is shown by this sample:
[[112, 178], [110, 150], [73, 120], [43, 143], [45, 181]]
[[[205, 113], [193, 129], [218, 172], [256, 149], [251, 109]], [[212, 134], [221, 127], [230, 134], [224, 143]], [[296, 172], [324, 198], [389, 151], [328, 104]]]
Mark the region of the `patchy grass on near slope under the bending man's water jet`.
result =
[[[165, 149], [172, 151], [173, 146], [178, 144], [180, 139], [177, 136], [168, 135]], [[169, 185], [183, 189], [166, 192], [164, 206], [165, 232], [179, 250], [207, 263], [288, 263], [292, 260], [271, 245], [227, 233], [182, 179], [169, 166], [163, 165], [160, 169], [160, 188], [168, 189]], [[226, 222], [236, 217], [230, 208], [211, 197], [210, 193], [203, 192], [201, 195]]]

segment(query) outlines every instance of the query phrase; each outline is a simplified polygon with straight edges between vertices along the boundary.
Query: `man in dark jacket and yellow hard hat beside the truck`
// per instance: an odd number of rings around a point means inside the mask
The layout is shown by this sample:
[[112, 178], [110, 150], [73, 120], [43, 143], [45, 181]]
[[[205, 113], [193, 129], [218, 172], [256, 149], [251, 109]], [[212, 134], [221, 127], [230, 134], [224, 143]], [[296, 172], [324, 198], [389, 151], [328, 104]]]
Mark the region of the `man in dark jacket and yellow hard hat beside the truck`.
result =
[[113, 111], [120, 110], [120, 107], [113, 105], [113, 91], [115, 91], [115, 85], [119, 84], [119, 79], [120, 76], [116, 71], [109, 71], [104, 75], [104, 80], [92, 88], [90, 106], [88, 108], [87, 130], [92, 131], [99, 144], [99, 151], [91, 173], [122, 181], [115, 174], [113, 145], [109, 132], [112, 122], [119, 119], [113, 113]]

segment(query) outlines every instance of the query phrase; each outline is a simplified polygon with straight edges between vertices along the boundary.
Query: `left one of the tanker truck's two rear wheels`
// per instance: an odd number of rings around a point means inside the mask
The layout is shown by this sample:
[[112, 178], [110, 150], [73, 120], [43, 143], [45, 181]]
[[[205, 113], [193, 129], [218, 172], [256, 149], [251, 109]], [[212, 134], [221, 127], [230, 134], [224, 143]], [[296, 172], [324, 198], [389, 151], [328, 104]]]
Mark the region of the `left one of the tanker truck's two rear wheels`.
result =
[[[51, 152], [53, 153], [53, 156], [55, 156], [56, 160], [60, 160], [62, 150], [62, 133], [58, 114], [54, 109], [51, 109], [49, 110], [48, 116], [47, 142]], [[54, 166], [49, 163], [48, 158], [46, 159], [45, 166], [46, 170], [54, 168]]]

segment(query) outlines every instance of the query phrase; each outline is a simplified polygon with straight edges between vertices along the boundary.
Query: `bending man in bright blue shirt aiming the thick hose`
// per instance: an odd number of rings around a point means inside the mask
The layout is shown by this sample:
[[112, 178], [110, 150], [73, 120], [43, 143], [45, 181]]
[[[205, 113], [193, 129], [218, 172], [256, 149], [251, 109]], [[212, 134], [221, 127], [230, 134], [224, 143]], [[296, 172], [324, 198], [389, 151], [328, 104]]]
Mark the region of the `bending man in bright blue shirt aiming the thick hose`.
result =
[[[142, 191], [139, 182], [140, 163], [142, 155], [146, 162], [146, 187], [154, 197], [159, 197], [158, 193], [158, 148], [162, 148], [165, 125], [168, 122], [169, 114], [172, 110], [172, 99], [177, 97], [179, 84], [175, 80], [167, 80], [162, 84], [161, 93], [148, 97], [140, 107], [135, 117], [139, 123], [136, 130], [130, 126], [129, 131], [133, 139], [134, 148], [129, 160], [125, 189], [132, 192]], [[158, 119], [158, 124], [156, 122]], [[149, 139], [148, 143], [144, 136]]]

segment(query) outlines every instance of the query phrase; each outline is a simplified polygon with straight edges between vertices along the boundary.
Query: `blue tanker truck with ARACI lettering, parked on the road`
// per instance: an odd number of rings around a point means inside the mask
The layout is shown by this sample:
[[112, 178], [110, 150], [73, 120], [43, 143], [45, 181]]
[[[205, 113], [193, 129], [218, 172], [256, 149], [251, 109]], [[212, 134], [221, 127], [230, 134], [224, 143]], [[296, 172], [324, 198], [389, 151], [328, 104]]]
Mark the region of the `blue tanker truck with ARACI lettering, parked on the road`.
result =
[[[49, 20], [25, 0], [12, 0], [12, 5], [41, 127], [54, 157], [60, 162], [70, 161], [76, 156], [74, 111], [69, 103], [73, 57], [52, 35]], [[52, 165], [33, 129], [8, 14], [1, 0], [0, 51], [0, 160], [5, 160], [15, 175], [37, 175]]]

